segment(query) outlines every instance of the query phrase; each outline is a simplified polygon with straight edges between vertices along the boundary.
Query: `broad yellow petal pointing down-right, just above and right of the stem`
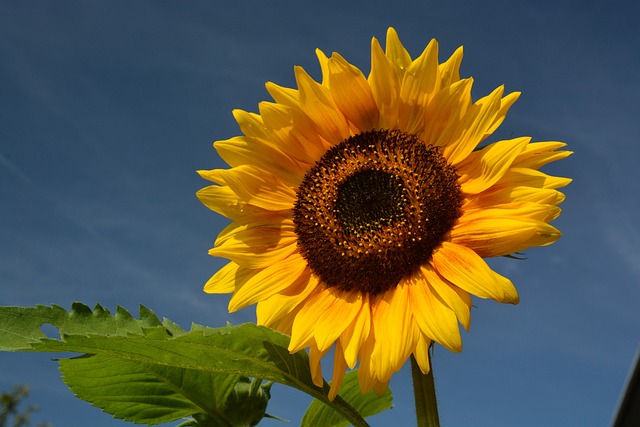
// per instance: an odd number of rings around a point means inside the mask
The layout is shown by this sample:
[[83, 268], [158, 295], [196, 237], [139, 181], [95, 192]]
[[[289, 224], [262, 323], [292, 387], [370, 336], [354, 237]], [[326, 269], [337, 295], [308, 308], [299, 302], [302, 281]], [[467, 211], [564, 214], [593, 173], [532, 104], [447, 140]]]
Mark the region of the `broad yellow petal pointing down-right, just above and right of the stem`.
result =
[[416, 276], [410, 282], [409, 295], [413, 317], [420, 330], [451, 351], [462, 350], [458, 319], [430, 284], [430, 281], [438, 280], [437, 275]]

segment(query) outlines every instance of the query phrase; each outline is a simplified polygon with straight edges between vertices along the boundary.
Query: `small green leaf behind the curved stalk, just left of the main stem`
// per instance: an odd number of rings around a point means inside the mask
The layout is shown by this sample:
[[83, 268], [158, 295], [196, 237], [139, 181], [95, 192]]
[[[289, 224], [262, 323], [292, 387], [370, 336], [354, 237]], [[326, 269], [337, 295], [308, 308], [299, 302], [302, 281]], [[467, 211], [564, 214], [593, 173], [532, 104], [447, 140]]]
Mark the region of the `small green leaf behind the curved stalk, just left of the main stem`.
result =
[[[393, 406], [391, 404], [393, 397], [390, 389], [387, 389], [382, 396], [377, 395], [374, 391], [362, 394], [358, 384], [357, 371], [347, 372], [339, 393], [345, 401], [365, 418], [386, 411]], [[349, 422], [339, 413], [316, 399], [311, 402], [300, 423], [301, 427], [343, 427], [348, 425]]]

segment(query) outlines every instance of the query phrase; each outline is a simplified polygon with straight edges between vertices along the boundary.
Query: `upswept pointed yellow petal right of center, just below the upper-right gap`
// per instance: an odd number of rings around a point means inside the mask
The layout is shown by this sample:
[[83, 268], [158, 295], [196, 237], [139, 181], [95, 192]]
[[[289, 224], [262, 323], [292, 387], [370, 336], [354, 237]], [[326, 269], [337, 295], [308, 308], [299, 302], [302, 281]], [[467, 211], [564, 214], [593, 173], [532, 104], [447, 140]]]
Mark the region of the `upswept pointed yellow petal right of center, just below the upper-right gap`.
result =
[[478, 194], [498, 182], [530, 140], [523, 137], [498, 141], [471, 153], [458, 165], [462, 192]]

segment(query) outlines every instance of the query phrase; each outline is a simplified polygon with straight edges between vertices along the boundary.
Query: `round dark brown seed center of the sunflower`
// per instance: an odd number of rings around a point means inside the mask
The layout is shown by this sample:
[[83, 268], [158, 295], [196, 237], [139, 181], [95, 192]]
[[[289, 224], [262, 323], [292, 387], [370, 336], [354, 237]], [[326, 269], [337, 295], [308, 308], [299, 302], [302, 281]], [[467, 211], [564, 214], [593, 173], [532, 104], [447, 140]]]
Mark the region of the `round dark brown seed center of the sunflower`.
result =
[[330, 287], [379, 294], [431, 259], [460, 216], [455, 169], [397, 130], [331, 148], [298, 188], [293, 220], [311, 270]]

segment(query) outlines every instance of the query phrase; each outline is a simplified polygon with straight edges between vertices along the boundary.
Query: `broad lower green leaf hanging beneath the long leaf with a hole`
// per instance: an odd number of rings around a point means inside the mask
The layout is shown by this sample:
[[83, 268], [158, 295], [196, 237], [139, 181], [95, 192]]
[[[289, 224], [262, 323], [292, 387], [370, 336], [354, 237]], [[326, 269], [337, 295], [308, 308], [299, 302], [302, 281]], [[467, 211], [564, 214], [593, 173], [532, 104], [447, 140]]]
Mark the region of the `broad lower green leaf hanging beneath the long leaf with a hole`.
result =
[[220, 410], [238, 375], [219, 375], [116, 358], [62, 359], [60, 371], [74, 394], [116, 418], [159, 424], [197, 413], [230, 426]]

